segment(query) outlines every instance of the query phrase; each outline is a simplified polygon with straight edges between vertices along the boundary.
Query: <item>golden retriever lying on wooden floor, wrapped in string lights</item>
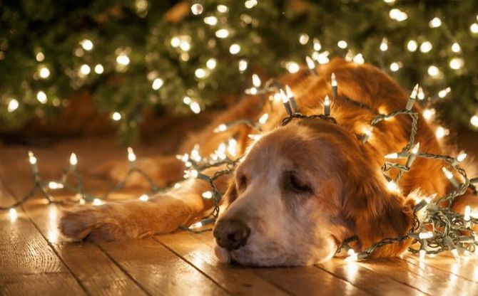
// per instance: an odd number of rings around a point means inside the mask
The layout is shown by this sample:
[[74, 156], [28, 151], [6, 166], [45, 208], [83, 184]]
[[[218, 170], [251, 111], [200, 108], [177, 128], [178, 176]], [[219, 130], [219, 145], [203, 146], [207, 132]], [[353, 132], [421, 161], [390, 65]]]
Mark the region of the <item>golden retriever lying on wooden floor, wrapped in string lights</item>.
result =
[[[330, 76], [339, 82], [332, 101], [331, 115], [337, 124], [322, 119], [286, 117], [282, 102], [263, 104], [260, 95], [244, 97], [195, 137], [180, 152], [195, 143], [200, 154], [213, 153], [218, 145], [234, 137], [238, 155], [245, 154], [235, 173], [216, 184], [225, 192], [222, 211], [213, 231], [220, 259], [243, 265], [310, 265], [332, 258], [340, 243], [357, 236], [357, 251], [365, 250], [382, 238], [405, 235], [414, 220], [412, 195], [443, 196], [452, 184], [442, 172], [443, 164], [417, 158], [400, 179], [400, 191], [387, 190], [381, 166], [385, 155], [400, 152], [410, 137], [412, 120], [400, 115], [375, 125], [367, 142], [360, 137], [370, 128], [372, 118], [401, 110], [409, 95], [394, 80], [372, 65], [334, 59], [317, 65], [317, 75], [307, 68], [285, 75], [280, 81], [290, 85], [303, 115], [323, 113], [324, 97], [332, 97]], [[360, 103], [360, 104], [357, 104]], [[419, 112], [415, 143], [421, 152], [445, 154], [444, 147]], [[220, 124], [233, 120], [258, 120], [269, 114], [259, 139], [246, 125], [214, 132]], [[231, 157], [232, 158], [232, 157]], [[138, 159], [138, 166], [161, 185], [183, 179], [184, 164], [176, 157]], [[210, 168], [212, 175], [221, 168]], [[128, 164], [113, 164], [108, 173], [121, 179]], [[391, 173], [395, 177], [397, 172]], [[141, 184], [141, 178], [130, 185]], [[200, 220], [213, 208], [213, 200], [202, 194], [208, 182], [185, 179], [165, 194], [149, 201], [107, 202], [101, 206], [77, 206], [66, 210], [60, 221], [61, 232], [76, 240], [122, 240], [168, 233], [179, 226]], [[455, 208], [472, 203], [471, 194], [455, 200]], [[377, 248], [372, 257], [395, 256], [411, 240]]]

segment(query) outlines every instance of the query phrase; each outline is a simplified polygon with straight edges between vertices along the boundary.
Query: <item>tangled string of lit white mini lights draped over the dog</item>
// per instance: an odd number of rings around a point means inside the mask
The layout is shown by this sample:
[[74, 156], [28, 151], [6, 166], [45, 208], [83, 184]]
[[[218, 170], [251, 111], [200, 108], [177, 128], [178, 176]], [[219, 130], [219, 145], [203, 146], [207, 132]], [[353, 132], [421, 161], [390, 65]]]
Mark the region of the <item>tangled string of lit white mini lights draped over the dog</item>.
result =
[[[313, 71], [314, 65], [310, 64], [310, 61], [307, 60], [307, 65], [310, 68], [310, 75], [317, 75], [315, 71]], [[271, 91], [275, 91], [276, 95], [282, 99], [283, 105], [285, 107], [288, 116], [283, 119], [281, 125], [287, 125], [292, 120], [298, 118], [310, 118], [310, 119], [320, 119], [320, 120], [327, 120], [337, 124], [337, 121], [334, 117], [330, 116], [330, 98], [325, 97], [323, 103], [324, 114], [322, 115], [303, 115], [298, 112], [297, 103], [295, 102], [294, 95], [288, 85], [281, 85], [278, 80], [269, 80], [268, 83], [265, 83], [264, 87], [261, 88], [260, 79], [257, 75], [253, 77], [253, 88], [246, 90], [246, 93], [251, 95], [260, 95], [262, 101], [265, 101], [265, 94], [270, 93]], [[337, 79], [335, 78], [335, 74], [332, 73], [331, 77], [331, 89], [332, 89], [332, 100], [337, 98]], [[355, 250], [350, 246], [350, 243], [354, 240], [358, 240], [356, 237], [348, 238], [337, 250], [337, 253], [340, 252], [342, 248], [347, 250], [349, 257], [346, 260], [362, 260], [368, 258], [370, 254], [377, 248], [380, 248], [384, 245], [388, 245], [391, 243], [398, 243], [403, 240], [407, 239], [414, 239], [414, 242], [419, 242], [420, 246], [419, 249], [409, 248], [410, 252], [412, 253], [419, 253], [420, 260], [424, 259], [424, 256], [429, 254], [437, 254], [441, 253], [445, 250], [449, 250], [454, 258], [459, 260], [459, 253], [458, 249], [462, 249], [464, 253], [474, 252], [476, 246], [478, 245], [478, 237], [475, 236], [474, 231], [472, 230], [472, 226], [474, 224], [478, 224], [478, 217], [471, 216], [471, 208], [469, 206], [465, 207], [464, 215], [457, 213], [450, 208], [452, 201], [456, 196], [460, 196], [464, 194], [467, 189], [471, 189], [474, 194], [477, 194], [477, 188], [474, 186], [474, 183], [478, 182], [478, 178], [469, 179], [467, 177], [466, 171], [459, 166], [459, 163], [464, 160], [466, 154], [459, 154], [458, 157], [449, 157], [447, 155], [439, 155], [439, 154], [429, 154], [429, 153], [422, 153], [419, 152], [419, 143], [415, 144], [415, 135], [417, 133], [417, 120], [418, 115], [417, 112], [412, 111], [412, 107], [417, 100], [417, 95], [419, 95], [419, 88], [418, 85], [415, 86], [414, 90], [412, 91], [412, 95], [410, 95], [409, 100], [407, 101], [407, 106], [403, 110], [398, 110], [395, 112], [391, 112], [387, 115], [377, 115], [372, 119], [370, 122], [370, 128], [364, 130], [363, 134], [360, 136], [360, 140], [362, 143], [367, 143], [367, 140], [370, 138], [372, 134], [372, 127], [377, 125], [382, 120], [387, 120], [392, 117], [396, 117], [398, 115], [409, 115], [412, 118], [412, 127], [410, 131], [410, 137], [408, 140], [407, 145], [402, 149], [401, 152], [395, 152], [392, 154], [387, 154], [385, 156], [386, 159], [407, 159], [406, 164], [399, 164], [396, 162], [385, 162], [382, 166], [382, 171], [387, 179], [387, 189], [390, 191], [397, 191], [400, 192], [400, 188], [397, 185], [398, 181], [400, 181], [400, 177], [402, 174], [405, 174], [407, 171], [410, 171], [410, 166], [415, 161], [417, 157], [422, 157], [426, 159], [436, 159], [437, 161], [442, 161], [448, 166], [451, 166], [454, 171], [456, 171], [459, 176], [462, 177], [464, 181], [462, 183], [457, 180], [454, 174], [447, 169], [446, 166], [442, 167], [442, 170], [447, 177], [447, 179], [453, 184], [454, 189], [449, 192], [449, 194], [445, 196], [435, 197], [434, 199], [431, 198], [424, 198], [419, 201], [416, 206], [414, 207], [414, 223], [412, 228], [410, 229], [409, 233], [405, 236], [399, 236], [396, 238], [384, 238], [377, 243], [374, 243], [367, 248], [366, 250], [355, 253]], [[350, 99], [347, 99], [350, 100]], [[363, 105], [360, 102], [356, 102], [354, 100], [350, 100], [352, 103], [357, 105], [358, 107], [365, 107], [370, 110], [370, 107]], [[272, 102], [272, 101], [271, 101]], [[272, 104], [271, 104], [272, 106]], [[265, 113], [264, 115], [260, 116], [257, 122], [253, 120], [235, 120], [233, 122], [229, 122], [228, 124], [222, 124], [218, 126], [214, 132], [224, 132], [231, 127], [236, 125], [247, 125], [251, 129], [255, 129], [258, 132], [261, 132], [262, 125], [268, 120], [268, 114]], [[250, 135], [251, 136], [251, 135]], [[209, 157], [201, 157], [198, 151], [198, 146], [195, 146], [190, 154], [178, 155], [178, 159], [184, 162], [185, 164], [185, 175], [184, 178], [193, 178], [193, 179], [201, 179], [203, 181], [207, 181], [210, 184], [212, 191], [205, 191], [202, 194], [204, 199], [214, 199], [214, 206], [213, 211], [210, 213], [209, 216], [200, 220], [196, 223], [193, 223], [190, 226], [181, 226], [187, 231], [192, 232], [203, 232], [209, 231], [210, 229], [202, 229], [198, 230], [198, 228], [203, 228], [203, 226], [208, 225], [210, 223], [215, 222], [218, 218], [218, 214], [220, 211], [220, 201], [222, 199], [222, 195], [218, 190], [217, 186], [215, 185], [215, 181], [220, 178], [220, 176], [224, 176], [226, 174], [230, 174], [234, 171], [235, 166], [238, 162], [241, 161], [242, 157], [238, 157], [237, 159], [233, 160], [230, 159], [226, 152], [230, 155], [235, 155], [237, 152], [235, 151], [235, 146], [237, 142], [234, 138], [229, 139], [228, 144], [222, 143], [219, 145], [218, 149], [213, 153], [210, 154]], [[0, 210], [7, 210], [10, 211], [11, 216], [16, 216], [16, 207], [21, 206], [27, 200], [31, 199], [31, 197], [35, 196], [37, 191], [40, 191], [41, 194], [44, 196], [44, 199], [49, 203], [93, 203], [93, 205], [101, 205], [104, 201], [108, 200], [108, 197], [114, 192], [119, 189], [122, 189], [128, 178], [131, 174], [137, 172], [141, 174], [150, 184], [151, 186], [151, 194], [156, 194], [162, 190], [160, 189], [154, 182], [152, 181], [151, 177], [146, 174], [145, 171], [136, 167], [136, 155], [133, 152], [133, 149], [128, 148], [128, 161], [130, 163], [130, 169], [126, 173], [125, 177], [119, 181], [117, 184], [114, 184], [109, 191], [106, 192], [102, 197], [93, 196], [92, 194], [87, 194], [86, 191], [83, 189], [83, 179], [80, 174], [76, 171], [76, 164], [78, 163], [78, 159], [76, 158], [76, 154], [71, 154], [70, 157], [70, 166], [68, 169], [63, 169], [63, 173], [61, 174], [61, 178], [57, 181], [43, 181], [39, 174], [39, 169], [36, 164], [36, 157], [32, 152], [29, 152], [29, 162], [31, 164], [31, 169], [34, 174], [34, 186], [26, 194], [22, 199], [16, 201], [11, 206], [5, 207], [0, 206]], [[213, 174], [213, 176], [209, 176], [208, 174], [204, 174], [203, 171], [205, 169], [210, 168], [218, 168], [218, 171]], [[390, 176], [385, 174], [387, 171], [391, 169], [397, 169], [398, 173], [395, 177], [395, 180], [392, 180]], [[76, 186], [68, 184], [68, 177], [73, 176], [76, 179]], [[49, 194], [50, 190], [55, 189], [67, 189], [73, 194], [76, 194], [77, 199], [73, 200], [56, 200], [54, 199], [51, 194]], [[148, 194], [143, 194], [139, 198], [141, 201], [148, 201], [149, 196]], [[440, 206], [439, 204], [446, 203], [447, 206]], [[418, 211], [424, 211], [424, 218], [420, 221], [417, 217]]]

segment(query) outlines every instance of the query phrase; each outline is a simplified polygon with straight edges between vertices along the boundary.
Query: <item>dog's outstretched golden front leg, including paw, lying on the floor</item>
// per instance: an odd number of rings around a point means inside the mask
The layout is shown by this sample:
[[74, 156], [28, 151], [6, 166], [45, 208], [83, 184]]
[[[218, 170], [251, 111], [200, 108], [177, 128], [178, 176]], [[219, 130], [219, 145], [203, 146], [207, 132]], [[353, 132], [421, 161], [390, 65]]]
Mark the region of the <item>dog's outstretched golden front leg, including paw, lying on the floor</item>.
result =
[[[213, 170], [207, 172], [213, 174]], [[215, 181], [225, 191], [229, 176]], [[166, 194], [149, 201], [116, 201], [101, 206], [76, 206], [63, 211], [59, 222], [61, 233], [73, 240], [121, 240], [168, 233], [204, 216], [213, 207], [212, 199], [204, 199], [210, 190], [206, 181], [189, 179]]]

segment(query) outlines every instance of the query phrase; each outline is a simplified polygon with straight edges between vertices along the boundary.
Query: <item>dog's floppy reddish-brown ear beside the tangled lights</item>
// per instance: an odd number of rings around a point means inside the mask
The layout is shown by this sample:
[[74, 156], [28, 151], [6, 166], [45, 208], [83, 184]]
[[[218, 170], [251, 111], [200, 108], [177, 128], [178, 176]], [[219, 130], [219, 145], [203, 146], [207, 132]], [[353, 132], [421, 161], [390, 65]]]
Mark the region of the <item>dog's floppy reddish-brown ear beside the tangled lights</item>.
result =
[[[355, 176], [357, 179], [345, 182], [343, 211], [352, 221], [352, 231], [365, 250], [383, 238], [403, 236], [410, 231], [415, 202], [400, 192], [389, 191], [385, 177], [371, 166], [365, 165], [360, 171], [360, 176]], [[396, 256], [408, 245], [410, 240], [385, 245], [377, 248], [372, 257]]]

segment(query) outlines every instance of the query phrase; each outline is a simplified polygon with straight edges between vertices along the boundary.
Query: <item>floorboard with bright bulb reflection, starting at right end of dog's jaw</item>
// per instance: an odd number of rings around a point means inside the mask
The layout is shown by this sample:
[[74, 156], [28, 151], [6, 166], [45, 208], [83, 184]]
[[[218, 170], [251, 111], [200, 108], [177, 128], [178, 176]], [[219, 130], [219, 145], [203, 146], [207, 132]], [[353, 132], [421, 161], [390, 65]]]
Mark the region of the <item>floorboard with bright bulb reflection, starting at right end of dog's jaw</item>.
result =
[[402, 282], [397, 282], [390, 277], [385, 277], [374, 270], [365, 268], [360, 263], [347, 263], [342, 258], [332, 258], [332, 260], [326, 263], [317, 265], [317, 268], [332, 273], [336, 277], [340, 277], [352, 285], [375, 295], [382, 295], [385, 291], [391, 295], [426, 295]]

